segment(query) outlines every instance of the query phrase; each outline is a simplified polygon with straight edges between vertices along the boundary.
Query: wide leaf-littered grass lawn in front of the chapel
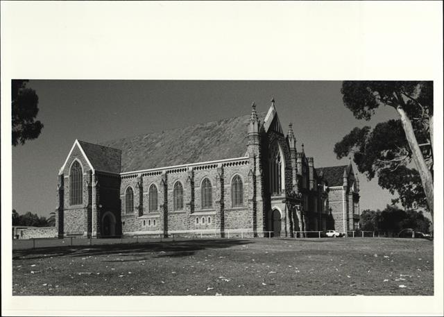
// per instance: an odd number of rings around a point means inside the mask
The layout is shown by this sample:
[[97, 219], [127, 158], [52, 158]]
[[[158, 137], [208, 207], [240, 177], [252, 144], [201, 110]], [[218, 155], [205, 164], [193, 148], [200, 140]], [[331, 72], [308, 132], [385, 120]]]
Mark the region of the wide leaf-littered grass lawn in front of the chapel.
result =
[[422, 239], [198, 239], [15, 250], [13, 295], [433, 295]]

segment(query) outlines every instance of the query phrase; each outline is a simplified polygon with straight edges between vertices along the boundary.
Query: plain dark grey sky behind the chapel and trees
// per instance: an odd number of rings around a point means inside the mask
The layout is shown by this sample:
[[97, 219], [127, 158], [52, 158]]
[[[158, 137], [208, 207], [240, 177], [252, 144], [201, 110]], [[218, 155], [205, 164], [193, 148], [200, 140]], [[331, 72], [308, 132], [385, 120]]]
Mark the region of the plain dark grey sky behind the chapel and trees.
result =
[[[380, 108], [371, 121], [355, 119], [343, 105], [339, 81], [31, 80], [28, 87], [39, 96], [44, 129], [12, 148], [12, 207], [42, 216], [56, 208], [58, 171], [75, 139], [94, 143], [239, 116], [250, 113], [253, 101], [266, 111], [274, 96], [284, 132], [292, 122], [298, 151], [303, 143], [321, 167], [348, 164], [348, 158], [336, 159], [333, 147], [352, 128], [396, 117]], [[359, 180], [361, 210], [391, 203], [377, 180], [361, 174]]]

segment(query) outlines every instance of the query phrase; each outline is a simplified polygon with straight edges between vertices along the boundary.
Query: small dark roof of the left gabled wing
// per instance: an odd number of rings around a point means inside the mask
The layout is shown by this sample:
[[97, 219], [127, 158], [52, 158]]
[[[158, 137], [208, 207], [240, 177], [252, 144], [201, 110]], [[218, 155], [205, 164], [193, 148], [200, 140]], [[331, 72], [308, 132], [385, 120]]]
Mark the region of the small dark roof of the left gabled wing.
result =
[[78, 140], [94, 169], [120, 173], [121, 151], [117, 148], [101, 146]]

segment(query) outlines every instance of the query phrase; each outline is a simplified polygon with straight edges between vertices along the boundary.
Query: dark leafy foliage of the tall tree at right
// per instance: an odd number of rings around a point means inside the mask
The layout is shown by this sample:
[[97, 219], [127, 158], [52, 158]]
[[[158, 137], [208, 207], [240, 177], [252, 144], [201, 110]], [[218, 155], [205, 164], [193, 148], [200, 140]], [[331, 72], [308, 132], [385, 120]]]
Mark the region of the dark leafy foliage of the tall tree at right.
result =
[[[357, 119], [369, 120], [381, 105], [402, 107], [411, 120], [413, 132], [427, 167], [433, 175], [430, 123], [433, 116], [433, 83], [420, 81], [344, 81], [343, 103]], [[413, 153], [400, 120], [354, 128], [334, 146], [336, 157], [350, 154], [357, 169], [368, 180], [377, 176], [379, 186], [398, 193], [404, 207], [428, 207], [418, 170], [412, 169]]]

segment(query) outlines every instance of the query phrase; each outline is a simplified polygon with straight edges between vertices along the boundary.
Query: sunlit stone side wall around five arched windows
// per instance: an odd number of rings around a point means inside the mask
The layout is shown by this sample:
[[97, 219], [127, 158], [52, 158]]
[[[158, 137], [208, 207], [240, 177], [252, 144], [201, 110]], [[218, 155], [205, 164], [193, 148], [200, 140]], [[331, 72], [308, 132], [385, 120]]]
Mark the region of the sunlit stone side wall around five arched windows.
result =
[[[246, 228], [252, 230], [253, 213], [248, 209], [248, 202], [253, 184], [249, 181], [249, 171], [248, 160], [241, 160], [124, 175], [120, 189], [123, 234], [221, 232]], [[239, 175], [244, 185], [241, 207], [232, 206], [231, 182], [234, 175]], [[201, 185], [205, 178], [212, 185], [212, 205], [203, 208]], [[178, 182], [183, 187], [183, 208], [174, 210], [173, 190]], [[155, 211], [149, 210], [151, 185], [157, 188], [158, 207]], [[139, 191], [141, 186], [143, 189]], [[134, 211], [129, 213], [126, 211], [125, 195], [128, 187], [133, 188], [135, 204]]]

